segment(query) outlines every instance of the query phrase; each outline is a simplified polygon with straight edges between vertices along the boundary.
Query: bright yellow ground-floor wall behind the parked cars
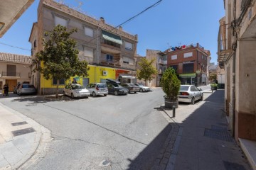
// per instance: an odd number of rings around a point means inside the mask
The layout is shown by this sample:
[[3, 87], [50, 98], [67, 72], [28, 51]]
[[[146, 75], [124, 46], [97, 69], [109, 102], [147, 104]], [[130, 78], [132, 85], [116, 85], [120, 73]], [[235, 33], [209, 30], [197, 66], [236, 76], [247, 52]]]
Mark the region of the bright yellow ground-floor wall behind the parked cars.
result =
[[[116, 71], [113, 68], [109, 67], [97, 67], [93, 65], [89, 65], [90, 70], [88, 71], [89, 76], [85, 78], [89, 78], [89, 83], [100, 83], [101, 79], [115, 79]], [[103, 71], [107, 72], [107, 75], [103, 75]], [[77, 79], [78, 84], [82, 84], [82, 77], [70, 77], [70, 79], [65, 81], [65, 84], [69, 84], [73, 81], [73, 78]], [[64, 88], [65, 85], [60, 85], [59, 88]], [[41, 74], [41, 88], [55, 88], [56, 85], [53, 84], [53, 80], [46, 80], [43, 78], [43, 74]]]

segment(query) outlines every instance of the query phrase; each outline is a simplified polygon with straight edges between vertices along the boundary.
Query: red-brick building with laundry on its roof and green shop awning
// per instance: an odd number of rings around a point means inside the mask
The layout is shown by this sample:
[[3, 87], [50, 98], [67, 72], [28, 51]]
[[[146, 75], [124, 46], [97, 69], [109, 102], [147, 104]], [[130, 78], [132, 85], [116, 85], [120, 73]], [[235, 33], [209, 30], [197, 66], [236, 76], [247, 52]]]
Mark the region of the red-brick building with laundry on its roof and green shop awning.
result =
[[181, 84], [203, 86], [208, 84], [208, 58], [210, 51], [205, 50], [198, 43], [183, 45], [166, 50], [167, 67], [176, 70]]

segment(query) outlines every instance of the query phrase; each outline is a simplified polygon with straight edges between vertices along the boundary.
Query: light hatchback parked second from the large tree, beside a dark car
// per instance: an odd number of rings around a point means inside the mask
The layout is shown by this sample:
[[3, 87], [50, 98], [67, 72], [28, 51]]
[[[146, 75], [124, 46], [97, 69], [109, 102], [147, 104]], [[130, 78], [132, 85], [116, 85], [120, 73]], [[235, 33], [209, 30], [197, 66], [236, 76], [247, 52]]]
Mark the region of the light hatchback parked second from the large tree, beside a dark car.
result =
[[98, 95], [107, 96], [108, 94], [107, 84], [103, 84], [103, 83], [88, 84], [86, 86], [86, 89], [90, 91], [90, 94], [94, 97]]

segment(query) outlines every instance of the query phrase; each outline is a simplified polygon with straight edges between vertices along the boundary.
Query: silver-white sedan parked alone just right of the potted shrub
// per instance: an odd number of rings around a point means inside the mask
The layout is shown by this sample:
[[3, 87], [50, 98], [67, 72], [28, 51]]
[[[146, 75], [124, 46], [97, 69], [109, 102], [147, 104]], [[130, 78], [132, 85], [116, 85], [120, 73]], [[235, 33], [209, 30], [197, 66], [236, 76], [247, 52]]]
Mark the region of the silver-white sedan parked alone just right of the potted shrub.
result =
[[203, 101], [203, 91], [194, 85], [181, 85], [178, 92], [178, 101], [194, 104], [195, 101]]

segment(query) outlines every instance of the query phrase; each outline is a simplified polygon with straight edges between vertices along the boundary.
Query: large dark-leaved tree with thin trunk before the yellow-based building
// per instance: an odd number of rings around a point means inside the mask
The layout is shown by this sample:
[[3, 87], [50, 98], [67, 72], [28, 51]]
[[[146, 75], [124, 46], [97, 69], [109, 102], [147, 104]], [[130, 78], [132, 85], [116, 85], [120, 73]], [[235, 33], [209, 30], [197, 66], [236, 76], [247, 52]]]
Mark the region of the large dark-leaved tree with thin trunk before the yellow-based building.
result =
[[70, 79], [70, 77], [87, 77], [89, 68], [86, 61], [80, 61], [78, 50], [75, 49], [76, 42], [70, 35], [77, 32], [77, 29], [67, 30], [64, 26], [55, 26], [53, 31], [45, 33], [43, 38], [43, 50], [36, 53], [33, 64], [45, 79], [57, 79], [55, 97], [58, 97], [58, 86], [60, 79]]

